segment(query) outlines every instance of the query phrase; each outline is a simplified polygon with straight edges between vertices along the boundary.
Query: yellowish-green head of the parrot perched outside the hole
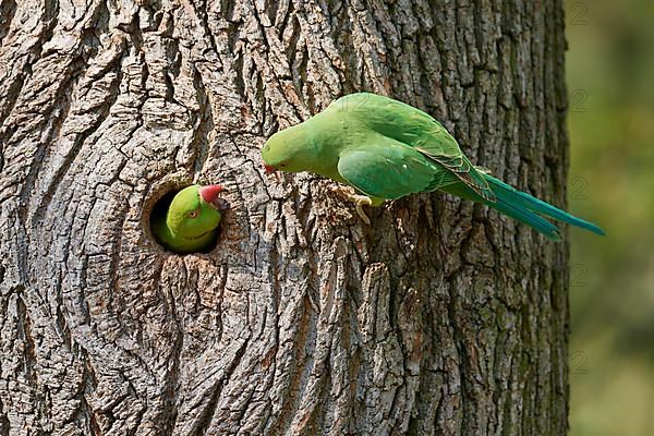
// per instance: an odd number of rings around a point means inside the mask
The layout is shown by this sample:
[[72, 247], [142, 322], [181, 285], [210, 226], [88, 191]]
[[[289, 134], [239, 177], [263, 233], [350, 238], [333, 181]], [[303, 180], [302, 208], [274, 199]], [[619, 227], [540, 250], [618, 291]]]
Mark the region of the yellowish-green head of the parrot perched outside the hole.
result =
[[316, 149], [311, 135], [300, 124], [275, 133], [262, 149], [266, 172], [306, 171], [316, 158]]

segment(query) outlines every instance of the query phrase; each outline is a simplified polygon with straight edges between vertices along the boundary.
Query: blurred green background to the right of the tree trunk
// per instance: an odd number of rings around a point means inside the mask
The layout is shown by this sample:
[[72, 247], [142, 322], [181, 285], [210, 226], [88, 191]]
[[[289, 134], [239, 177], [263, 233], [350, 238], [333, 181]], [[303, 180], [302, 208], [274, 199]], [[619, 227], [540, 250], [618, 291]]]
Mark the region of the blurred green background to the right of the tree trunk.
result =
[[654, 1], [566, 2], [571, 436], [654, 435]]

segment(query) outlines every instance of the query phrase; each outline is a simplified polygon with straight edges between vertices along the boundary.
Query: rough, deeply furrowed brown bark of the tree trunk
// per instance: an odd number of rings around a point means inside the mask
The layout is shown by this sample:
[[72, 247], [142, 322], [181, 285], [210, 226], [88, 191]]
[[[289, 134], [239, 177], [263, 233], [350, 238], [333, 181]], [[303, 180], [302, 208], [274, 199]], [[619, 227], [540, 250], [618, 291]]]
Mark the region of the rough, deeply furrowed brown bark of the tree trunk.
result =
[[[554, 435], [567, 263], [441, 194], [371, 213], [267, 177], [271, 132], [373, 90], [565, 202], [560, 0], [0, 0], [0, 435]], [[208, 254], [167, 191], [226, 184]]]

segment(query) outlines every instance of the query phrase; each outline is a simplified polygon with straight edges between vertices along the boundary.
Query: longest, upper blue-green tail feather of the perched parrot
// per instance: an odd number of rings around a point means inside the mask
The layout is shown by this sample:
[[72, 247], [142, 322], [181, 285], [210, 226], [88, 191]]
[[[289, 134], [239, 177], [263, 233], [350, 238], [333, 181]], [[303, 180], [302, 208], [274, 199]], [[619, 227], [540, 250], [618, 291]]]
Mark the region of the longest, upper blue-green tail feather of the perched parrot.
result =
[[[577, 218], [573, 215], [568, 214], [565, 210], [561, 210], [548, 203], [545, 203], [536, 197], [529, 195], [525, 192], [518, 191], [517, 189], [506, 184], [501, 180], [495, 179], [492, 175], [484, 174], [491, 189], [495, 193], [498, 198], [498, 203], [508, 203], [514, 208], [520, 208], [523, 211], [526, 211], [529, 215], [541, 214], [554, 219], [558, 219], [559, 221], [567, 222], [572, 226], [580, 227], [582, 229], [592, 231], [593, 233], [604, 235], [604, 230], [598, 226], [595, 226], [592, 222], [583, 220], [581, 218]], [[491, 205], [493, 206], [493, 205]], [[501, 209], [500, 209], [501, 210]], [[534, 214], [536, 213], [536, 214]], [[542, 218], [541, 218], [542, 219]], [[530, 220], [525, 221], [528, 225], [534, 227], [538, 230]], [[538, 230], [541, 231], [541, 230]], [[547, 233], [546, 233], [547, 234]], [[558, 233], [557, 233], [558, 234]]]

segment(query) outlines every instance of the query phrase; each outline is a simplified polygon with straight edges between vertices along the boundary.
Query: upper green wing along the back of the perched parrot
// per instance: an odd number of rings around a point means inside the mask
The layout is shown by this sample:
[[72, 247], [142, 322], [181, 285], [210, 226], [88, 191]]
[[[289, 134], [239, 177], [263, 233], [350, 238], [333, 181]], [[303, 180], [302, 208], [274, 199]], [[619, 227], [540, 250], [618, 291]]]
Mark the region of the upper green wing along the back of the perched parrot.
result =
[[385, 136], [416, 149], [440, 164], [489, 202], [495, 194], [482, 171], [463, 155], [457, 141], [438, 121], [412, 106], [376, 94], [359, 93], [335, 102], [346, 118], [354, 118]]

